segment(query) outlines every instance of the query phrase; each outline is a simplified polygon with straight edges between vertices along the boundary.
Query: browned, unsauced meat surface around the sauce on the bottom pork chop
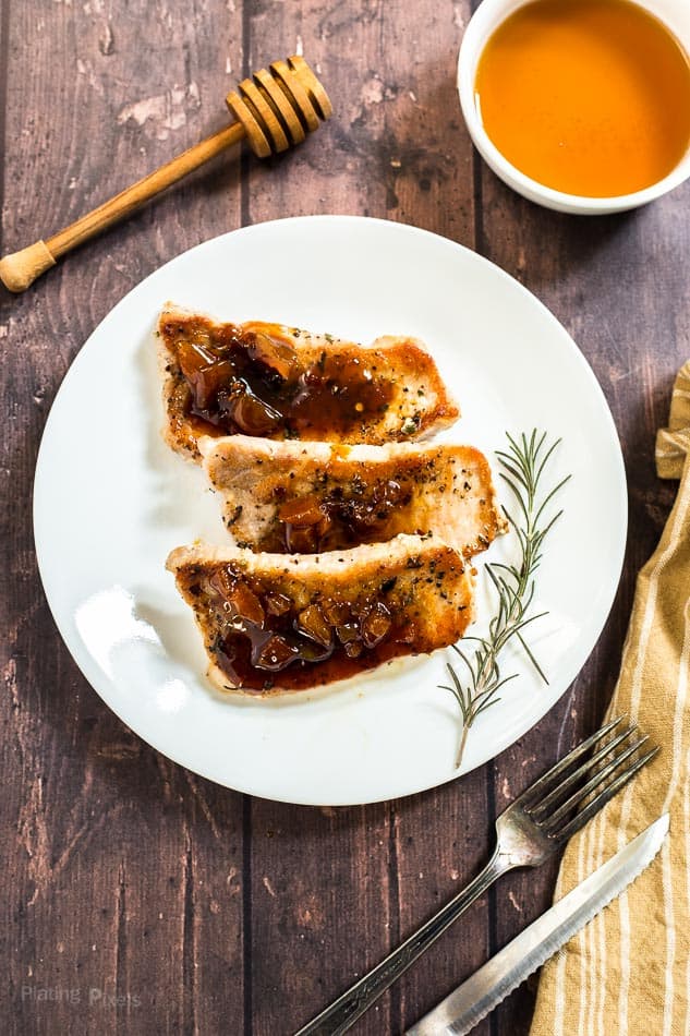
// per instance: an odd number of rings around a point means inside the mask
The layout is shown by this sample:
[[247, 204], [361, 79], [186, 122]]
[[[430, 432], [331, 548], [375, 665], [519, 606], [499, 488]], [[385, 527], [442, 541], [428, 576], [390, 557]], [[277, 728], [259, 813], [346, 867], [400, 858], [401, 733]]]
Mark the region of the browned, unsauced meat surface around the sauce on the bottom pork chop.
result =
[[304, 667], [295, 686], [292, 666], [288, 687], [281, 679], [290, 668], [271, 675], [267, 680], [270, 686], [263, 688], [264, 692], [317, 687], [355, 676], [396, 658], [448, 647], [462, 637], [472, 618], [474, 571], [456, 551], [435, 539], [398, 535], [388, 543], [320, 555], [254, 554], [204, 544], [178, 547], [169, 555], [167, 568], [194, 612], [209, 658], [208, 678], [225, 691], [239, 688], [230, 684], [214, 661], [214, 645], [221, 626], [209, 592], [205, 590], [209, 576], [222, 566], [232, 566], [256, 593], [271, 591], [289, 597], [296, 611], [326, 598], [339, 601], [375, 597], [386, 603], [396, 622], [404, 628], [407, 642], [384, 641], [359, 659], [348, 660], [346, 671], [341, 659], [338, 665], [334, 665], [332, 660], [314, 663]]

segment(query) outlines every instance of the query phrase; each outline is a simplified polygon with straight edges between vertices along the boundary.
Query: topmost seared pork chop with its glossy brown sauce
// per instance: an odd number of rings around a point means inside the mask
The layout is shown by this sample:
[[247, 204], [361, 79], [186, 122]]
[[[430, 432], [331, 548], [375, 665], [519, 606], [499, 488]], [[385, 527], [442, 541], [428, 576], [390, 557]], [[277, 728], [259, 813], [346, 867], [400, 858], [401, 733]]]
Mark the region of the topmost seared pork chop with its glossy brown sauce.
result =
[[158, 322], [165, 437], [198, 460], [201, 435], [411, 441], [459, 410], [419, 341], [368, 347], [295, 327], [218, 323], [168, 303]]

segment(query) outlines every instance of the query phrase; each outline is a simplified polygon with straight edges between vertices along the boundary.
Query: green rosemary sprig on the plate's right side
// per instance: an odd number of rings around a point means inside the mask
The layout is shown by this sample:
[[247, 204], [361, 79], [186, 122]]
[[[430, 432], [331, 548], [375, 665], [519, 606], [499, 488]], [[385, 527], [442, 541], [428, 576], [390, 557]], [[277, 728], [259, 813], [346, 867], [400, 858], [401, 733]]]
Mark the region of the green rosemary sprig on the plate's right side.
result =
[[544, 469], [560, 439], [556, 439], [548, 446], [546, 432], [540, 434], [536, 429], [529, 437], [522, 433], [518, 438], [513, 438], [508, 432], [506, 432], [506, 437], [507, 449], [496, 450], [496, 456], [503, 469], [500, 477], [508, 483], [518, 506], [516, 518], [511, 517], [506, 507], [504, 507], [504, 513], [517, 533], [520, 556], [515, 565], [497, 562], [486, 565], [486, 571], [498, 598], [496, 611], [488, 625], [488, 634], [486, 637], [463, 637], [461, 645], [469, 642], [474, 645], [474, 651], [471, 654], [459, 645], [453, 645], [455, 651], [462, 659], [468, 672], [467, 683], [463, 684], [453, 666], [448, 663], [450, 685], [441, 685], [455, 697], [462, 719], [456, 767], [459, 767], [462, 761], [468, 733], [477, 715], [500, 701], [497, 697], [498, 691], [518, 675], [513, 673], [510, 676], [501, 676], [498, 665], [498, 658], [509, 640], [515, 638], [520, 642], [544, 683], [548, 683], [524, 640], [523, 630], [530, 623], [547, 614], [546, 612], [540, 612], [536, 615], [528, 613], [534, 598], [534, 576], [542, 561], [544, 539], [562, 514], [562, 510], [559, 510], [553, 517], [546, 518], [545, 511], [570, 475], [566, 475], [544, 494], [542, 492]]

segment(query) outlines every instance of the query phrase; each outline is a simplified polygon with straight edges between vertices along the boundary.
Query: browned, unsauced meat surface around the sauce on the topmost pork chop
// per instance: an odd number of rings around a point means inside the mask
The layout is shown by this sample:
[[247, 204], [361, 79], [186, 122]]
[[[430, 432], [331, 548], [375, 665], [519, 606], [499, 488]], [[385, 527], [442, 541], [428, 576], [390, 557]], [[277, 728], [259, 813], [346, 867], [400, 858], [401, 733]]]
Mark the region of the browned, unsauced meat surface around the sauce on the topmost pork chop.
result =
[[[371, 346], [361, 346], [334, 338], [331, 335], [314, 334], [262, 321], [223, 324], [170, 302], [160, 314], [157, 336], [166, 413], [162, 431], [172, 449], [195, 461], [199, 459], [197, 439], [202, 434], [220, 436], [225, 433], [221, 430], [216, 432], [213, 425], [187, 413], [190, 389], [180, 370], [175, 347], [185, 337], [193, 337], [199, 329], [208, 333], [209, 329], [213, 332], [214, 328], [230, 326], [243, 334], [264, 333], [281, 338], [292, 346], [305, 365], [317, 364], [324, 353], [365, 360], [376, 369], [376, 377], [385, 378], [394, 385], [391, 403], [376, 420], [370, 418], [354, 423], [347, 434], [341, 434], [336, 429], [329, 430], [326, 424], [308, 435], [301, 434], [301, 438], [373, 444], [404, 442], [439, 432], [460, 415], [433, 358], [414, 338], [384, 336]], [[285, 432], [280, 430], [269, 437], [283, 438]]]

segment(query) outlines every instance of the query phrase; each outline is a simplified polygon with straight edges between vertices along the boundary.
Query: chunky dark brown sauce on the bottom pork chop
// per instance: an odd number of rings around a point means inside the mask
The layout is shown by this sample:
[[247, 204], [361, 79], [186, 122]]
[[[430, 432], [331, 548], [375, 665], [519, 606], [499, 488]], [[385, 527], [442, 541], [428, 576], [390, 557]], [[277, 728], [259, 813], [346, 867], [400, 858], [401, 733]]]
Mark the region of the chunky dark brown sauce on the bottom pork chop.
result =
[[414, 629], [409, 621], [404, 627], [396, 623], [396, 581], [356, 599], [324, 597], [299, 610], [288, 595], [229, 565], [207, 573], [190, 592], [210, 602], [217, 634], [208, 647], [230, 684], [270, 690], [279, 673], [281, 687], [300, 690], [410, 653]]

